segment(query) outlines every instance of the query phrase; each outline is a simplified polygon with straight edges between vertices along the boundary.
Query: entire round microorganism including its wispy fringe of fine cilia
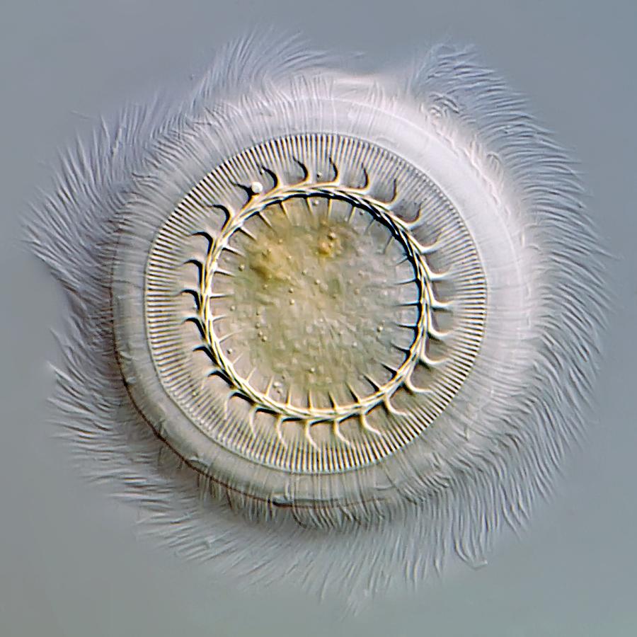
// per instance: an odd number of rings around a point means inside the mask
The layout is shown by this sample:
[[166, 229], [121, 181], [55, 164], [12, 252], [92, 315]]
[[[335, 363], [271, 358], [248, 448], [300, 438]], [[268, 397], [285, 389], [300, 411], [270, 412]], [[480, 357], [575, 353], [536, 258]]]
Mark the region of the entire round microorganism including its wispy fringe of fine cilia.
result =
[[220, 52], [78, 142], [28, 223], [69, 298], [54, 423], [162, 544], [356, 602], [549, 495], [604, 254], [568, 154], [470, 51]]

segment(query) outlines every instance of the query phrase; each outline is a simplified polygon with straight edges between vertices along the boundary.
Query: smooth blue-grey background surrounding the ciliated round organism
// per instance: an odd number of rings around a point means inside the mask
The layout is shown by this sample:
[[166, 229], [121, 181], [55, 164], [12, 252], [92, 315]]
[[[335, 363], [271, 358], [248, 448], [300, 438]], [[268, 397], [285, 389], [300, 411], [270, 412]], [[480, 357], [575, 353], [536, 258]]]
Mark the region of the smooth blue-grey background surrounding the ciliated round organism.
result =
[[[637, 3], [11, 0], [0, 13], [0, 635], [637, 634]], [[213, 47], [258, 25], [370, 65], [441, 38], [476, 44], [575, 150], [621, 257], [599, 424], [556, 498], [486, 568], [358, 616], [286, 583], [231, 590], [148, 549], [134, 513], [81, 484], [43, 426], [64, 304], [19, 244], [26, 202], [76, 130], [166, 79], [188, 85]]]

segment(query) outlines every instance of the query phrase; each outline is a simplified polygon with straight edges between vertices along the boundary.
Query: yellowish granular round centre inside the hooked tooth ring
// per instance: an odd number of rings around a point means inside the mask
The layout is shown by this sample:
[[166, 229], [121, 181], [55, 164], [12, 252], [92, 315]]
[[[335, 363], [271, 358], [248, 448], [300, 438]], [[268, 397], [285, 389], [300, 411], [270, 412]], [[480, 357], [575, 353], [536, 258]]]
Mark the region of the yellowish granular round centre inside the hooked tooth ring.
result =
[[294, 406], [373, 394], [416, 335], [405, 246], [345, 200], [289, 197], [253, 214], [222, 252], [212, 292], [226, 359], [255, 389]]

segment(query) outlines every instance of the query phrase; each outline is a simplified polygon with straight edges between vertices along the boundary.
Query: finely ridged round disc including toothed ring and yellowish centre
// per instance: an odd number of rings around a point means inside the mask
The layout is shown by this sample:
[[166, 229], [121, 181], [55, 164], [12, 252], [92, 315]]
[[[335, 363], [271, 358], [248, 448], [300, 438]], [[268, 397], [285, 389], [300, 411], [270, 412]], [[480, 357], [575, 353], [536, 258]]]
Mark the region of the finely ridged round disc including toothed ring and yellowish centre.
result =
[[[124, 241], [120, 270], [130, 256]], [[200, 471], [265, 499], [251, 467], [314, 476], [305, 495], [321, 500], [321, 475], [421, 435], [471, 370], [486, 303], [437, 185], [328, 134], [274, 139], [207, 174], [149, 246], [143, 289], [145, 323], [125, 295], [115, 314], [120, 352], [142, 334], [149, 348], [152, 369], [125, 366], [140, 411]]]

